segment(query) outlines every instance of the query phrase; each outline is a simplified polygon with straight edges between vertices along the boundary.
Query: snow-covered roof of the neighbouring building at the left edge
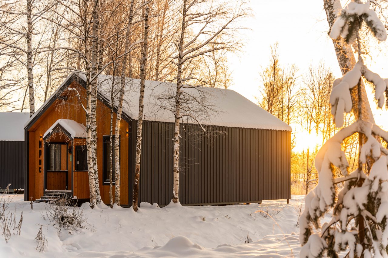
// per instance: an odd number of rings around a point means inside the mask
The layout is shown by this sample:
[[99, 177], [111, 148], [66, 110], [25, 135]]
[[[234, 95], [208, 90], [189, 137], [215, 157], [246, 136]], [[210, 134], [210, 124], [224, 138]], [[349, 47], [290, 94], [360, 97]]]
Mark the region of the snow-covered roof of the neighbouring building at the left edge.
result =
[[0, 141], [24, 141], [24, 123], [29, 113], [0, 112]]

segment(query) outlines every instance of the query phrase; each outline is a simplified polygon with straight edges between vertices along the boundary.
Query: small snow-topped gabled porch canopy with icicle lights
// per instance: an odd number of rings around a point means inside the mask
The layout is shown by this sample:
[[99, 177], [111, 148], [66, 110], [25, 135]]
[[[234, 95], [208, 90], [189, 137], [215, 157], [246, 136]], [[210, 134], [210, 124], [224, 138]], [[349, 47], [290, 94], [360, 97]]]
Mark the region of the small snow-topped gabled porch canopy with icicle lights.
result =
[[43, 134], [43, 139], [50, 138], [57, 132], [63, 132], [70, 139], [86, 138], [86, 127], [71, 119], [58, 119], [50, 128]]

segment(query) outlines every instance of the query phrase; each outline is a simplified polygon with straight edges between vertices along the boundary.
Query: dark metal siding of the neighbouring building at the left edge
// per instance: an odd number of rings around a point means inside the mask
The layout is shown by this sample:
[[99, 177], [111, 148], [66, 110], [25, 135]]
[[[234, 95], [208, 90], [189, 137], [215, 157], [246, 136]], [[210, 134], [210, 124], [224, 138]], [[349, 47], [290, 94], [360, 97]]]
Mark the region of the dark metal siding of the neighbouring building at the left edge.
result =
[[0, 141], [0, 187], [24, 188], [24, 141]]

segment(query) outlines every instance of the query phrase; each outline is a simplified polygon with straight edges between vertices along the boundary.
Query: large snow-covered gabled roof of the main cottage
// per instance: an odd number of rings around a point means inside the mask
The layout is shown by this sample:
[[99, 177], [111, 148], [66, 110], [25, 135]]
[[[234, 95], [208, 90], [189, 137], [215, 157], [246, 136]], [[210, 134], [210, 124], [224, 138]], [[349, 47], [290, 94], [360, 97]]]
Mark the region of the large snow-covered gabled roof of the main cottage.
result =
[[[71, 74], [65, 81], [72, 76]], [[76, 74], [85, 81], [85, 74]], [[112, 76], [99, 75], [98, 92], [108, 102], [111, 96]], [[116, 78], [119, 81], [119, 78]], [[62, 83], [62, 85], [64, 84]], [[117, 87], [120, 85], [117, 84]], [[60, 89], [61, 87], [59, 87]], [[126, 78], [126, 91], [123, 103], [123, 112], [130, 118], [137, 120], [139, 113], [139, 88], [140, 79]], [[170, 110], [167, 110], [165, 101], [166, 95], [175, 95], [176, 84], [159, 81], [145, 81], [144, 95], [144, 120], [159, 121], [159, 122], [174, 122], [174, 115]], [[196, 123], [225, 127], [242, 127], [254, 129], [270, 129], [291, 131], [291, 127], [278, 119], [274, 115], [268, 113], [263, 108], [259, 107], [252, 101], [240, 95], [231, 89], [197, 87], [183, 89], [188, 95], [199, 97], [205, 96], [205, 104], [211, 107], [213, 111], [201, 117], [198, 115], [196, 121], [192, 118], [185, 118], [184, 122]], [[49, 103], [51, 98], [43, 103], [33, 117], [31, 117], [25, 126], [42, 111], [42, 108]]]

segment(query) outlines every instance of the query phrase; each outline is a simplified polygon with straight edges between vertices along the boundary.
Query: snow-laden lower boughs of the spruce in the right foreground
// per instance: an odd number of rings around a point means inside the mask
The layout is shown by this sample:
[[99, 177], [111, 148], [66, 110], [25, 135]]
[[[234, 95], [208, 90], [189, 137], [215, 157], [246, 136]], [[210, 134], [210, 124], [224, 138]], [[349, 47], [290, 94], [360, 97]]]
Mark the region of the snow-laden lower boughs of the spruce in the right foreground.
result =
[[[343, 140], [357, 132], [367, 139], [360, 151], [360, 164], [365, 164], [368, 158], [376, 160], [369, 176], [359, 169], [348, 173], [348, 161], [341, 150]], [[371, 240], [375, 255], [388, 246], [388, 159], [385, 148], [375, 136], [386, 141], [388, 132], [371, 122], [357, 120], [351, 126], [338, 131], [318, 151], [315, 167], [319, 184], [306, 196], [305, 211], [300, 217], [300, 241], [303, 245], [301, 257], [320, 257], [328, 248], [337, 253], [347, 249], [349, 257], [358, 257], [362, 251], [361, 245], [357, 244], [358, 232], [349, 226], [353, 223], [349, 218], [356, 217], [365, 221], [365, 235]], [[343, 177], [334, 179], [335, 167], [341, 170]], [[339, 183], [344, 186], [336, 194], [335, 185]], [[379, 200], [381, 204], [371, 208], [371, 198]], [[333, 208], [333, 219], [322, 226], [321, 232], [314, 232], [312, 226], [318, 229], [319, 218], [330, 208]], [[374, 227], [369, 226], [369, 220], [375, 224]], [[376, 230], [381, 232], [378, 233], [379, 237], [376, 237]], [[332, 247], [329, 246], [330, 243], [333, 244]]]

